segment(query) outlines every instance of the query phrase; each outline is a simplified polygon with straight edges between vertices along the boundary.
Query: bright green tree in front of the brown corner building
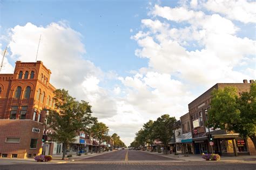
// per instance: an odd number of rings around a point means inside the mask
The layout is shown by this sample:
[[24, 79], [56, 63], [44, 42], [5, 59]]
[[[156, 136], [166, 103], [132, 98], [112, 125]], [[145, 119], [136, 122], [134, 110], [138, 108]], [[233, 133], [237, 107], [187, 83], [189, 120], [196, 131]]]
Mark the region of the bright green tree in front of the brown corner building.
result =
[[235, 87], [225, 87], [212, 91], [209, 124], [214, 128], [239, 133], [242, 138], [250, 138], [256, 148], [256, 84], [250, 92], [237, 96]]

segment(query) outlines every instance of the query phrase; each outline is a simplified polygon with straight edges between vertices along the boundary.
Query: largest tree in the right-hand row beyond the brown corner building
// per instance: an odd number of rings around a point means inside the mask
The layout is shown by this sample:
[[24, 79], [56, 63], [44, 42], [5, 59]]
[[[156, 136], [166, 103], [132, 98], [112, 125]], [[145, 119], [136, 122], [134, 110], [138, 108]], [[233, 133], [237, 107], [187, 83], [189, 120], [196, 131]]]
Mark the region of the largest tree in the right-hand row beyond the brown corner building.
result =
[[167, 146], [173, 136], [173, 126], [175, 122], [175, 117], [170, 117], [169, 114], [161, 115], [161, 117], [157, 118], [154, 122], [154, 135], [156, 135], [156, 139], [163, 142], [166, 154]]

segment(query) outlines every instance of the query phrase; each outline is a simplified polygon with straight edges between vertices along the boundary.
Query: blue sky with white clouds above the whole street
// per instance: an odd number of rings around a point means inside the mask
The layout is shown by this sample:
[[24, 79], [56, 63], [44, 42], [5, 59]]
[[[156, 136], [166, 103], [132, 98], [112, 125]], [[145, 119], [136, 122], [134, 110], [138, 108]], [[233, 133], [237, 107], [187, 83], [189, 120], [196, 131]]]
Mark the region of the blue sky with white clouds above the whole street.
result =
[[50, 83], [92, 105], [127, 146], [216, 83], [256, 79], [256, 3], [0, 1], [0, 73], [42, 60]]

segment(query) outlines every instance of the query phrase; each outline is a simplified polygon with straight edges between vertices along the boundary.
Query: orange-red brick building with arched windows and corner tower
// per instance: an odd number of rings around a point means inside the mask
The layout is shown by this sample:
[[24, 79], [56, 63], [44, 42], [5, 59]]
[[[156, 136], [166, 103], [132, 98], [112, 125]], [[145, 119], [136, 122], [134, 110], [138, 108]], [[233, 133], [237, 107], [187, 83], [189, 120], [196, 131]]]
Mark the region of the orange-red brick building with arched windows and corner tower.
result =
[[[13, 74], [0, 74], [0, 157], [42, 153], [45, 113], [54, 108], [51, 71], [43, 62], [16, 62]], [[52, 154], [53, 143], [46, 145]]]

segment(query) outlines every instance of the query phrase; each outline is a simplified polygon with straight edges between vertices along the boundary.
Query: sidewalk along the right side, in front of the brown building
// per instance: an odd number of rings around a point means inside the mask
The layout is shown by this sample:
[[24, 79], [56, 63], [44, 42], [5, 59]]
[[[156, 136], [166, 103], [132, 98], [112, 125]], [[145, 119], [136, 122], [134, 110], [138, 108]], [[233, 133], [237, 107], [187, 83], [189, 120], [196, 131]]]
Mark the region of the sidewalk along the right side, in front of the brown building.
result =
[[[194, 155], [194, 154], [186, 154], [188, 157], [184, 157], [184, 154], [163, 154], [163, 153], [158, 153], [158, 152], [150, 152], [150, 151], [142, 151], [150, 154], [156, 154], [162, 157], [166, 158], [172, 158], [175, 160], [180, 160], [180, 161], [205, 161], [200, 154]], [[250, 162], [252, 164], [256, 164], [256, 156], [250, 156], [250, 155], [243, 155], [243, 156], [238, 156], [238, 157], [220, 157], [220, 160], [218, 162]]]

